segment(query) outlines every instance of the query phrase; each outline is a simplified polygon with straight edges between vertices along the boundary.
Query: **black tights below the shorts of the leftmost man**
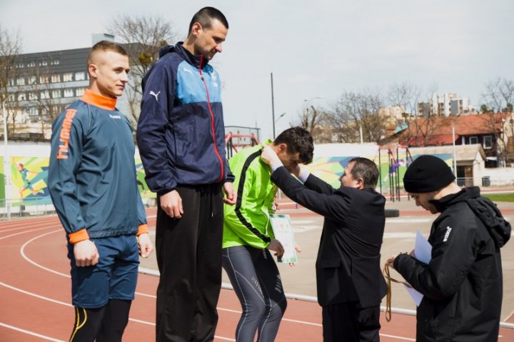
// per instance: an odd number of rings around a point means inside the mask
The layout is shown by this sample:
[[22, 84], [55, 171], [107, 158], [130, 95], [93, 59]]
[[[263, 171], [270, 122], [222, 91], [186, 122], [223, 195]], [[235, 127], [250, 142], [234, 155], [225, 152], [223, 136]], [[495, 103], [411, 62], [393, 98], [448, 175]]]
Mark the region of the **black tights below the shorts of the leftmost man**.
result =
[[121, 342], [131, 303], [113, 299], [101, 308], [75, 308], [75, 326], [69, 341]]

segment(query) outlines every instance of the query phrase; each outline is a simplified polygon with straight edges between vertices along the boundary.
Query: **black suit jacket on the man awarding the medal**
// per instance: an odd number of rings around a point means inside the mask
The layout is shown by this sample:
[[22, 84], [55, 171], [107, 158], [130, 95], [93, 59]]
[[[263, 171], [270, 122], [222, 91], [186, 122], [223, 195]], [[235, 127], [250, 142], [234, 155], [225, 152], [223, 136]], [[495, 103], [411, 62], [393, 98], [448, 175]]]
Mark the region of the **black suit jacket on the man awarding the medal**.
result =
[[385, 198], [371, 189], [335, 189], [312, 174], [302, 184], [285, 167], [276, 169], [271, 181], [325, 217], [316, 261], [318, 303], [379, 305], [387, 291], [380, 264]]

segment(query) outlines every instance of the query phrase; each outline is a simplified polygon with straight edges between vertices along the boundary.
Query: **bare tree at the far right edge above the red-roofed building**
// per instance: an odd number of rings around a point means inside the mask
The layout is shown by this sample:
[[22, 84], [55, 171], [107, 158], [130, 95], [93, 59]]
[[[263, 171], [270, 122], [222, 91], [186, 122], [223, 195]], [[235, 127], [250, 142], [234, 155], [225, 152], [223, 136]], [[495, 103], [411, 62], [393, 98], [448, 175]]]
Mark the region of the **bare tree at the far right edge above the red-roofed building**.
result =
[[483, 104], [480, 109], [484, 113], [488, 111], [513, 111], [514, 81], [500, 77], [488, 81], [482, 93], [482, 101]]

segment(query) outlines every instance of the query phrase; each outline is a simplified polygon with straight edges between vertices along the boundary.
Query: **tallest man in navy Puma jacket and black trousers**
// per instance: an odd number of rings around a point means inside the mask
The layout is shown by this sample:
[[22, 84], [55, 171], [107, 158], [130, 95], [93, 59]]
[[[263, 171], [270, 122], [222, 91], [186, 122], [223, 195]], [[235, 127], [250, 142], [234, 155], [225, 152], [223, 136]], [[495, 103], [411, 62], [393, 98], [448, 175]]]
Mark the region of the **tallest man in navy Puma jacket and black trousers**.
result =
[[221, 81], [208, 61], [221, 52], [225, 16], [191, 20], [186, 41], [161, 49], [143, 79], [137, 142], [157, 193], [157, 341], [212, 341], [221, 288], [223, 193], [235, 203], [225, 155]]

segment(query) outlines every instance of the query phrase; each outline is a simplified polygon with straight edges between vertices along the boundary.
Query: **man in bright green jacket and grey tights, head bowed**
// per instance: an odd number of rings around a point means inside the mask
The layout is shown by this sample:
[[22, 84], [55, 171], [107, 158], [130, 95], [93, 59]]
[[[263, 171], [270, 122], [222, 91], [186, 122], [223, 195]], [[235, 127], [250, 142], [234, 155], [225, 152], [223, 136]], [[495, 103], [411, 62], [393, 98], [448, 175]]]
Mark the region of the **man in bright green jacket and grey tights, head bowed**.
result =
[[[283, 131], [275, 141], [266, 141], [289, 171], [313, 159], [313, 138], [301, 127]], [[225, 206], [223, 223], [223, 268], [241, 302], [243, 313], [236, 341], [274, 341], [286, 311], [286, 296], [271, 251], [283, 255], [275, 239], [269, 214], [273, 213], [276, 186], [270, 166], [261, 161], [264, 146], [243, 149], [229, 161], [236, 180], [236, 206]]]

